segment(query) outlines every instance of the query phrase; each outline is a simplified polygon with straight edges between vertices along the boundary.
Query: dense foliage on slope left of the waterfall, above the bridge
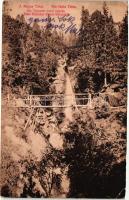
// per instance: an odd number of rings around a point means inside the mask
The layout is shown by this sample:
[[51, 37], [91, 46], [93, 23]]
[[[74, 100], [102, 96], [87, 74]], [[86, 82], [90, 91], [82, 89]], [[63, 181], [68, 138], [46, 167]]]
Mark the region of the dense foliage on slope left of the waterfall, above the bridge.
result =
[[[9, 48], [8, 55], [6, 46]], [[35, 93], [36, 90], [40, 94], [49, 92], [52, 77], [56, 74], [57, 53], [64, 48], [56, 31], [51, 32], [48, 28], [41, 31], [37, 22], [30, 27], [24, 16], [12, 19], [5, 15], [3, 48], [3, 87], [7, 86], [18, 94], [19, 88], [25, 93]]]

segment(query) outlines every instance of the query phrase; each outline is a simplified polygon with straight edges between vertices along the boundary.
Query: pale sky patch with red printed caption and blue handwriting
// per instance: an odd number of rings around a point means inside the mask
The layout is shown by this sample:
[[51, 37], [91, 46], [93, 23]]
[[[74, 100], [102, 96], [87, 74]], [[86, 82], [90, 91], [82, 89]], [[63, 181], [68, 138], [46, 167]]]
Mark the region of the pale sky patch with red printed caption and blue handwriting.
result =
[[[23, 10], [24, 16], [30, 25], [37, 22], [41, 29], [44, 29], [48, 24], [51, 29], [63, 31], [64, 33], [79, 34], [79, 28], [75, 17], [71, 11], [76, 9], [74, 4], [35, 4], [35, 3], [20, 3], [20, 9]], [[70, 13], [70, 14], [69, 14]], [[48, 19], [48, 16], [49, 19]]]

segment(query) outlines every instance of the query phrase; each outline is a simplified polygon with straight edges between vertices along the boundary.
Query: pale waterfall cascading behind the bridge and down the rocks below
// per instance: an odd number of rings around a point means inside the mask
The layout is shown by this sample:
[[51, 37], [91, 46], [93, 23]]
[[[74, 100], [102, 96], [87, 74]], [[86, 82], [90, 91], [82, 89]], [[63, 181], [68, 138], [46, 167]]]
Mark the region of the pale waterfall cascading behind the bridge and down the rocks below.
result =
[[[73, 108], [76, 107], [76, 100], [75, 100], [75, 94], [73, 92], [71, 80], [69, 77], [69, 74], [65, 70], [66, 67], [66, 60], [64, 58], [60, 58], [58, 60], [58, 69], [57, 69], [57, 76], [56, 80], [54, 82], [55, 84], [55, 91], [59, 96], [63, 96], [63, 105], [65, 105], [64, 108], [62, 108], [65, 118], [61, 124], [62, 128], [60, 127], [59, 130], [56, 130], [55, 132], [50, 134], [49, 142], [50, 144], [57, 149], [62, 149], [63, 142], [64, 142], [64, 136], [60, 134], [61, 131], [67, 130], [67, 127], [69, 123], [73, 120]], [[55, 98], [55, 101], [53, 102], [53, 105], [59, 105], [58, 98]], [[55, 108], [54, 111], [57, 112], [60, 108]], [[55, 124], [55, 127], [57, 125]], [[61, 170], [60, 168], [57, 168], [56, 170]], [[61, 181], [61, 188], [62, 191], [59, 192], [59, 197], [66, 197], [68, 191], [69, 191], [69, 184], [70, 180], [68, 178], [68, 167], [63, 169], [62, 173], [62, 181]], [[58, 190], [54, 190], [52, 197], [58, 196]]]

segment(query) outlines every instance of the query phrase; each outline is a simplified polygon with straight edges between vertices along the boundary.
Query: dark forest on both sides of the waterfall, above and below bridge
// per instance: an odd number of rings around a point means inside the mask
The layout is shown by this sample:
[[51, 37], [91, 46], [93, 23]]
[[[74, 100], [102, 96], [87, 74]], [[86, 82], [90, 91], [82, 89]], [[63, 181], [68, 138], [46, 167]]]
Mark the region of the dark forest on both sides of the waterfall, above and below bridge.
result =
[[[71, 77], [74, 92], [88, 91], [92, 97], [101, 92], [107, 94], [107, 101], [112, 107], [126, 106], [127, 18], [125, 13], [123, 20], [115, 23], [106, 3], [103, 4], [103, 11], [96, 10], [92, 14], [82, 7], [79, 35], [68, 36], [73, 41], [68, 45], [62, 33], [51, 29], [50, 16], [46, 28], [41, 30], [37, 22], [29, 26], [23, 15], [18, 15], [16, 19], [3, 15], [2, 96], [10, 93], [20, 98], [29, 94], [55, 93], [58, 59], [67, 54], [65, 70]], [[3, 121], [6, 125], [3, 123], [2, 128], [1, 195], [123, 198], [126, 108], [114, 111], [109, 104], [106, 107], [96, 103], [93, 110], [79, 108], [66, 129], [63, 129], [66, 122], [62, 110], [45, 109], [47, 117], [35, 125], [31, 134], [22, 128], [28, 111], [15, 109], [16, 121], [12, 123], [10, 119], [14, 110], [8, 110], [4, 105]], [[6, 121], [7, 112], [11, 118]], [[56, 118], [63, 149], [56, 149], [49, 143], [51, 128], [48, 129], [49, 134], [44, 131], [47, 120], [51, 127], [51, 116]], [[12, 143], [16, 142], [17, 148], [10, 142], [8, 134], [12, 134]], [[34, 157], [33, 150], [38, 151], [37, 147], [29, 149], [27, 146], [31, 145], [31, 137], [38, 141], [40, 137], [44, 138], [46, 147], [40, 159]], [[13, 157], [10, 152], [13, 149], [18, 151], [18, 148], [21, 152], [24, 148], [27, 150], [25, 155], [19, 153], [14, 159], [16, 156]], [[66, 169], [67, 180], [64, 180]], [[66, 191], [63, 180], [69, 181]]]

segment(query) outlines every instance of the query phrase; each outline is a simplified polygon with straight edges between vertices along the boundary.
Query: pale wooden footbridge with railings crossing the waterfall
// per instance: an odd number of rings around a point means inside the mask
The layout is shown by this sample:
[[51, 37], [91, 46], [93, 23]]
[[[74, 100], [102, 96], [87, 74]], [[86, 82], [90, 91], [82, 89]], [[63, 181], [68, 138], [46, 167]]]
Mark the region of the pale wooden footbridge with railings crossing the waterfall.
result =
[[[83, 107], [91, 104], [91, 95], [87, 93], [75, 93], [75, 102], [71, 103], [71, 95], [47, 94], [29, 95], [24, 98], [8, 96], [9, 107], [31, 107], [31, 108], [62, 108], [69, 106]], [[70, 102], [70, 103], [69, 103]]]

